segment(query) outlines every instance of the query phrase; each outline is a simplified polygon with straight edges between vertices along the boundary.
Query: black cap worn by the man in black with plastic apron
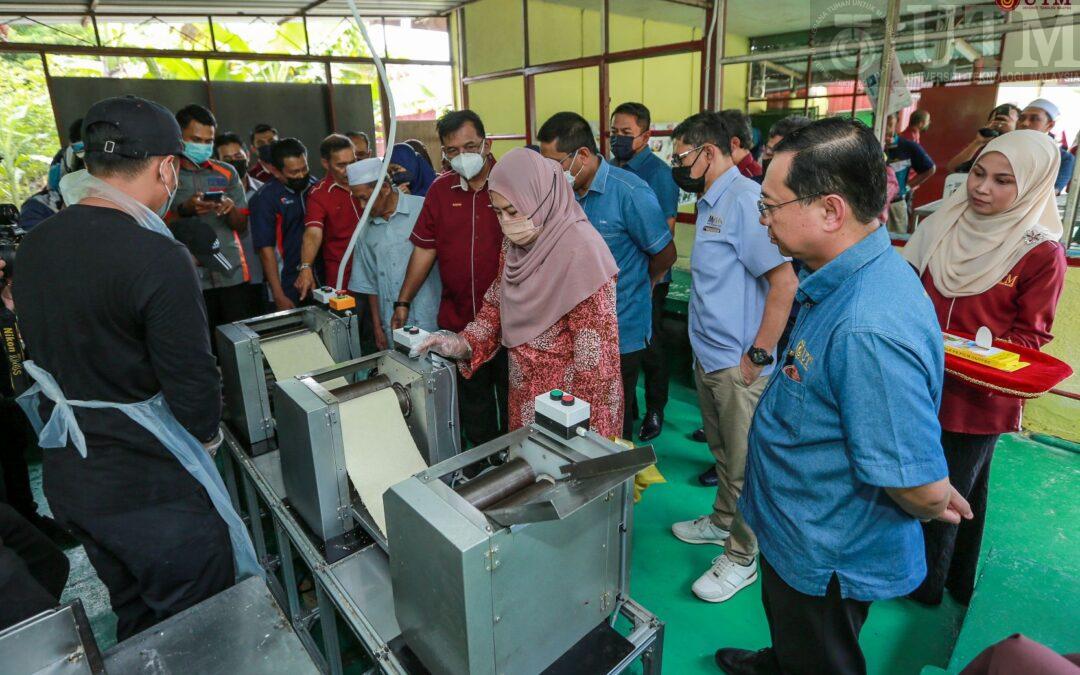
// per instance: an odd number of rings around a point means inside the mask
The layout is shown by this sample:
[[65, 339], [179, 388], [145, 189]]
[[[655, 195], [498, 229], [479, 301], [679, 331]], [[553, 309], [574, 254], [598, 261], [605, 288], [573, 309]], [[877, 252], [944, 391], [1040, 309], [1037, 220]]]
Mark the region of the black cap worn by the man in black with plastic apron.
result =
[[132, 159], [181, 154], [184, 139], [176, 118], [164, 106], [138, 96], [116, 96], [90, 107], [82, 119], [83, 138], [91, 124], [117, 127], [120, 139], [86, 144], [86, 152], [107, 152]]

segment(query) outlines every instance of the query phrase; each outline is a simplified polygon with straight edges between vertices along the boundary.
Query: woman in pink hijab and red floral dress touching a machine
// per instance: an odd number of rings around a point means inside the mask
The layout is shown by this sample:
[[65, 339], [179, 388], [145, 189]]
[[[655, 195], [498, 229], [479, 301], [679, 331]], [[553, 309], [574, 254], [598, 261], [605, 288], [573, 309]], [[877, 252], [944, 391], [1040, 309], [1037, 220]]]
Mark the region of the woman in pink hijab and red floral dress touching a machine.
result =
[[589, 402], [593, 431], [618, 436], [623, 392], [615, 258], [562, 167], [538, 152], [508, 152], [488, 188], [505, 235], [499, 275], [464, 330], [441, 330], [417, 351], [457, 359], [468, 378], [505, 347], [510, 429], [534, 420], [536, 396], [561, 389]]

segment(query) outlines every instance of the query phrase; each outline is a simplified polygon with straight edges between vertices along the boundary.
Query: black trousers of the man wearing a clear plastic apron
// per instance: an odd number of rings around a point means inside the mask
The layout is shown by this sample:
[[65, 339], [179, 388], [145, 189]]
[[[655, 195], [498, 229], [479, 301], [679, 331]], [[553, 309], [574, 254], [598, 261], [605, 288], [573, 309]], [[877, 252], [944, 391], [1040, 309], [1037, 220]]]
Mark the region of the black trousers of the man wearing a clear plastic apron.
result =
[[228, 526], [201, 487], [173, 501], [122, 513], [87, 513], [53, 504], [53, 514], [86, 549], [109, 590], [118, 640], [234, 581]]

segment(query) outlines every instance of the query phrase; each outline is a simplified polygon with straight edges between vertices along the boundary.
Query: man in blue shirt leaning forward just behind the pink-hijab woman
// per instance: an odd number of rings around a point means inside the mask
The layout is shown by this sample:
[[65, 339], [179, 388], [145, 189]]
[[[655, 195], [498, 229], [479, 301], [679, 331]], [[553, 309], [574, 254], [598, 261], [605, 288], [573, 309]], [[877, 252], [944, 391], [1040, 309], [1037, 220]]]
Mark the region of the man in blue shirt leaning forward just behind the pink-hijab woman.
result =
[[657, 197], [634, 174], [604, 161], [589, 122], [557, 112], [537, 134], [540, 152], [559, 162], [589, 221], [619, 265], [616, 305], [625, 408], [622, 435], [632, 438], [637, 373], [652, 337], [652, 286], [675, 262], [675, 242]]

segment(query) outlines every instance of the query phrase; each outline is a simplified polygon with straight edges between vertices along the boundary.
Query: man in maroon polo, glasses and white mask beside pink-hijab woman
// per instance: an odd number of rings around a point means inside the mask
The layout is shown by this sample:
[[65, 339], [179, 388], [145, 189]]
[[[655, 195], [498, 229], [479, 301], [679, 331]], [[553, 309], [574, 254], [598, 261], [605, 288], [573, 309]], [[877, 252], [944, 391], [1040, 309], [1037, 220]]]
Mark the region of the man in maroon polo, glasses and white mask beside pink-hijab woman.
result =
[[[392, 326], [399, 328], [407, 321], [409, 302], [437, 260], [443, 281], [438, 327], [458, 333], [476, 316], [499, 273], [502, 229], [487, 191], [495, 158], [484, 123], [472, 110], [447, 112], [435, 130], [453, 172], [442, 174], [428, 188], [409, 238], [415, 248], [394, 302]], [[474, 446], [505, 433], [508, 387], [505, 350], [471, 379], [458, 378], [461, 424]]]

